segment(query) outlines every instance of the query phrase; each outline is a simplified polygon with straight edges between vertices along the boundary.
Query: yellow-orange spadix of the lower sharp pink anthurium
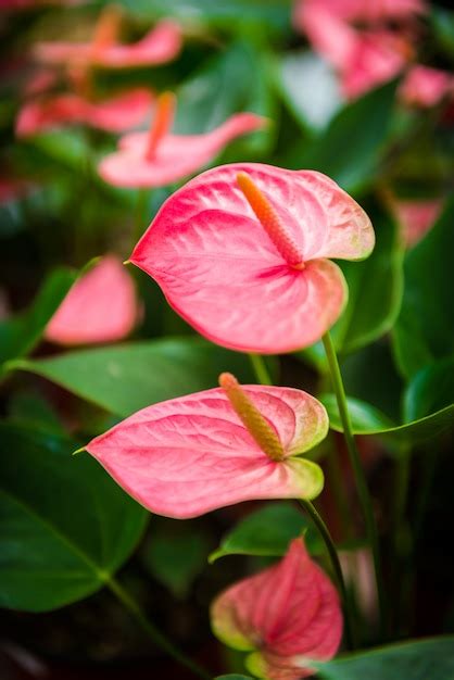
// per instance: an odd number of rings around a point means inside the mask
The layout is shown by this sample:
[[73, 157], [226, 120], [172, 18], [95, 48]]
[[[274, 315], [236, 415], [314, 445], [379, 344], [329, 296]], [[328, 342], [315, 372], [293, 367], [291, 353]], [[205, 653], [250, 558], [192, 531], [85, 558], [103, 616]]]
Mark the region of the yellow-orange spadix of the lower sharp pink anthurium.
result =
[[230, 373], [223, 373], [219, 376], [219, 386], [225, 391], [235, 413], [262, 451], [272, 461], [283, 461], [286, 453], [276, 430], [253, 404], [237, 378]]

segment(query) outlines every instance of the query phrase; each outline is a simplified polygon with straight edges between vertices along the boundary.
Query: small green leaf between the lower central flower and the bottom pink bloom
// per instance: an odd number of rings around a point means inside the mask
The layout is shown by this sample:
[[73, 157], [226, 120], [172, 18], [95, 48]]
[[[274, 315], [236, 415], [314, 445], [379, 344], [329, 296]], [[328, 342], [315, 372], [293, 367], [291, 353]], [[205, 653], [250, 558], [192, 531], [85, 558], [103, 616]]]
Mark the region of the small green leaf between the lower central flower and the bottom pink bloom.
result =
[[220, 542], [210, 557], [210, 563], [226, 555], [285, 555], [289, 542], [305, 531], [312, 554], [323, 553], [321, 540], [310, 520], [290, 503], [272, 503], [251, 513]]

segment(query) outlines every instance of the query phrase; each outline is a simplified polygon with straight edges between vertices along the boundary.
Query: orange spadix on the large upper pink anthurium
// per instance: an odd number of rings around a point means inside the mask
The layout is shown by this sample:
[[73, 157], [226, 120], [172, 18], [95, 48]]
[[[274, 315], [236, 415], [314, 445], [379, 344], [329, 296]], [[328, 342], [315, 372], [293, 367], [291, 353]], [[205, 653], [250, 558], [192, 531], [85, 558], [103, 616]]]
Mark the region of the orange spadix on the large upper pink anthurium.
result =
[[244, 172], [237, 174], [237, 184], [278, 252], [291, 267], [303, 269], [302, 250], [289, 234], [277, 211], [265, 194]]

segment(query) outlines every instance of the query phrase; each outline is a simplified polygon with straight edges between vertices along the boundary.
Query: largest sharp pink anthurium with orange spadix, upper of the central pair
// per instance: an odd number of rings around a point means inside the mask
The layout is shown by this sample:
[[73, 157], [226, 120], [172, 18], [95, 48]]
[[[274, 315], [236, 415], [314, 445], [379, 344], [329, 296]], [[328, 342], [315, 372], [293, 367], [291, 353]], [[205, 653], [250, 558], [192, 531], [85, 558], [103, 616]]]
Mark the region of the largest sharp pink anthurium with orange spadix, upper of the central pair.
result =
[[332, 326], [348, 291], [328, 257], [361, 260], [374, 240], [366, 213], [329, 177], [241, 163], [176, 191], [130, 261], [213, 342], [275, 354]]

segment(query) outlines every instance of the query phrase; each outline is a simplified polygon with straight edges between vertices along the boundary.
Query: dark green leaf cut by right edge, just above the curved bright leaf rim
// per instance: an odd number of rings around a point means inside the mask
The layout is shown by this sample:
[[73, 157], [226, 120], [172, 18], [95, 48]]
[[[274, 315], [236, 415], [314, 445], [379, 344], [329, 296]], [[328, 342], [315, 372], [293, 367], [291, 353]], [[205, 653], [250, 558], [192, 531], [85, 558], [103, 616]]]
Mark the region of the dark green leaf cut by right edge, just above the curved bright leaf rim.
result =
[[421, 368], [404, 395], [404, 417], [411, 421], [454, 404], [454, 357]]

